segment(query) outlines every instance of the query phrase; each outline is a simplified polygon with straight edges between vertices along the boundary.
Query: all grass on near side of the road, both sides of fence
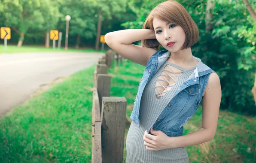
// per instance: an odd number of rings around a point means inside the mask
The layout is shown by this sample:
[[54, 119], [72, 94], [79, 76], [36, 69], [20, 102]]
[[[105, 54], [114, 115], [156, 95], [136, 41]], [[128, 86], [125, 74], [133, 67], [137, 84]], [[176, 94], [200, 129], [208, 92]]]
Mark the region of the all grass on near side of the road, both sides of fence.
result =
[[[143, 68], [124, 61], [122, 66], [109, 70], [110, 96], [126, 98], [128, 117]], [[77, 72], [0, 119], [0, 163], [90, 163], [93, 72], [94, 66]], [[199, 108], [185, 124], [184, 134], [200, 128], [201, 114]], [[256, 162], [255, 135], [255, 117], [220, 111], [216, 136], [210, 142], [187, 147], [189, 160], [191, 163]], [[124, 162], [125, 159], [126, 151]]]

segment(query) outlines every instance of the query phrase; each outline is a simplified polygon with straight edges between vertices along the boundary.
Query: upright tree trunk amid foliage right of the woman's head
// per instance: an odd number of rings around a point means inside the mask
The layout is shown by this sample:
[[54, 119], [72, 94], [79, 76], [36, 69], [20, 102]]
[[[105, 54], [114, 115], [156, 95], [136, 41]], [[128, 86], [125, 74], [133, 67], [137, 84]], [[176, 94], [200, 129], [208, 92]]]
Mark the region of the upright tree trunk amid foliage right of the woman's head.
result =
[[206, 15], [205, 15], [205, 30], [207, 33], [211, 33], [213, 30], [213, 14], [211, 13], [211, 9], [215, 6], [213, 0], [207, 0], [206, 5]]

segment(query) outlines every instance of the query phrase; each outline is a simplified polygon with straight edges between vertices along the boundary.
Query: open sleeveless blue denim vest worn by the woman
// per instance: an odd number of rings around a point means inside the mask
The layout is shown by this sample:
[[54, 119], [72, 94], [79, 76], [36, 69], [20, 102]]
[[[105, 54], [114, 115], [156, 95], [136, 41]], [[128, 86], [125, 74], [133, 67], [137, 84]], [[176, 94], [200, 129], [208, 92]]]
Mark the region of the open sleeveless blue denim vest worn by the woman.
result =
[[[139, 126], [140, 100], [143, 90], [146, 84], [148, 84], [155, 75], [155, 72], [157, 72], [169, 57], [170, 52], [163, 50], [156, 51], [155, 54], [149, 58], [138, 86], [137, 96], [130, 117], [131, 120]], [[194, 58], [198, 60], [198, 65], [189, 78], [176, 91], [174, 97], [165, 108], [160, 108], [162, 112], [157, 116], [158, 118], [155, 119], [154, 124], [151, 125], [153, 130], [161, 130], [168, 136], [182, 136], [183, 125], [186, 124], [188, 119], [191, 118], [198, 109], [210, 72], [214, 71], [202, 63], [199, 58]], [[150, 133], [151, 127], [148, 129], [148, 133]]]

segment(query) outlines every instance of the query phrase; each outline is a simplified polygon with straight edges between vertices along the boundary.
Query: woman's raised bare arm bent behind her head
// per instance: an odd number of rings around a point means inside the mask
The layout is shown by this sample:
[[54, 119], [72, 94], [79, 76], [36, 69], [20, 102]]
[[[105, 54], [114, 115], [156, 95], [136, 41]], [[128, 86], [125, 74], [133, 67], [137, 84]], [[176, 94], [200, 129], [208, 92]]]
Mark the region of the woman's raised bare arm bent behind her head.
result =
[[105, 35], [105, 41], [110, 48], [122, 55], [122, 57], [146, 66], [149, 58], [156, 52], [156, 50], [132, 44], [132, 42], [143, 39], [155, 39], [154, 30], [118, 30]]

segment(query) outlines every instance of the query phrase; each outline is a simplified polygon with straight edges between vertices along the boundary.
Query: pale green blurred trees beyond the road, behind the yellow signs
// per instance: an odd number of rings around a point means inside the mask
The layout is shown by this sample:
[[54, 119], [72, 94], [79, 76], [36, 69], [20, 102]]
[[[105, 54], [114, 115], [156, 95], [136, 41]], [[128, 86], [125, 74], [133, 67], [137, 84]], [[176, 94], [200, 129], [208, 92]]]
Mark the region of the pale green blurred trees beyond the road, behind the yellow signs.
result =
[[4, 0], [0, 1], [0, 27], [12, 27], [11, 43], [18, 42], [18, 32], [27, 33], [20, 38], [25, 44], [44, 44], [49, 30], [65, 34], [65, 16], [70, 15], [69, 45], [78, 45], [81, 39], [88, 46], [94, 44], [100, 8], [101, 34], [106, 34], [124, 29], [121, 23], [136, 19], [131, 5], [128, 0]]

